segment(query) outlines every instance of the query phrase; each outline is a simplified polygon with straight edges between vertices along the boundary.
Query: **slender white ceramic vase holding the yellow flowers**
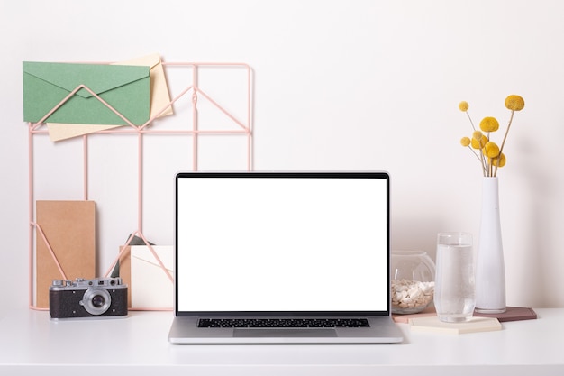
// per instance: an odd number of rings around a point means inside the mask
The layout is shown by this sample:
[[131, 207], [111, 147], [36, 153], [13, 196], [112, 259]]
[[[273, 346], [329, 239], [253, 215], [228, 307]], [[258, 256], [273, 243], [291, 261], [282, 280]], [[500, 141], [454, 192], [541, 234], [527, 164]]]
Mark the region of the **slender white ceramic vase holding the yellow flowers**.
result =
[[496, 177], [482, 183], [482, 219], [476, 259], [476, 311], [505, 312], [505, 262]]

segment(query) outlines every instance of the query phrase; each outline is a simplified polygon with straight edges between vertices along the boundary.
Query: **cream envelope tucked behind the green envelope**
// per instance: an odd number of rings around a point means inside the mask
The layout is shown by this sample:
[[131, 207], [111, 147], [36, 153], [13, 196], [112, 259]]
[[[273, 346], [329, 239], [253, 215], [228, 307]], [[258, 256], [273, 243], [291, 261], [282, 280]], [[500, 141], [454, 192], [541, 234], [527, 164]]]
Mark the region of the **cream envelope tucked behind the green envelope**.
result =
[[[172, 106], [167, 107], [167, 105], [170, 104], [170, 95], [168, 93], [165, 69], [162, 66], [160, 55], [158, 53], [153, 53], [137, 59], [120, 61], [114, 63], [113, 65], [139, 65], [150, 67], [150, 117], [153, 118], [174, 114]], [[50, 140], [52, 142], [57, 142], [120, 126], [123, 125], [48, 123], [47, 129], [49, 131]]]

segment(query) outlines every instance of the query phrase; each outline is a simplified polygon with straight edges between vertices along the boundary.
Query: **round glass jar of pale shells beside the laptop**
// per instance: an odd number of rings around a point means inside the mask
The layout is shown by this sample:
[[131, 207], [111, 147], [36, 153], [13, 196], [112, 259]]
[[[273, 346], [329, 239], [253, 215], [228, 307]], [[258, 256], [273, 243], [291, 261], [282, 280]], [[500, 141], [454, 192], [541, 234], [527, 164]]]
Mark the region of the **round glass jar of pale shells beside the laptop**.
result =
[[432, 304], [435, 264], [427, 252], [392, 251], [392, 313], [414, 314]]

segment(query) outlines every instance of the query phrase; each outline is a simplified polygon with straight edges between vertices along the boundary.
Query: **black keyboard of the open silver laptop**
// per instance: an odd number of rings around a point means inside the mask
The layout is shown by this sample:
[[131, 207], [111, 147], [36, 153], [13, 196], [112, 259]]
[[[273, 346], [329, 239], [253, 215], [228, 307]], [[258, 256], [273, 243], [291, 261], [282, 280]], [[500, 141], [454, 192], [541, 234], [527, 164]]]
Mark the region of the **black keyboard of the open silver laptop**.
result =
[[368, 327], [366, 318], [201, 318], [198, 327]]

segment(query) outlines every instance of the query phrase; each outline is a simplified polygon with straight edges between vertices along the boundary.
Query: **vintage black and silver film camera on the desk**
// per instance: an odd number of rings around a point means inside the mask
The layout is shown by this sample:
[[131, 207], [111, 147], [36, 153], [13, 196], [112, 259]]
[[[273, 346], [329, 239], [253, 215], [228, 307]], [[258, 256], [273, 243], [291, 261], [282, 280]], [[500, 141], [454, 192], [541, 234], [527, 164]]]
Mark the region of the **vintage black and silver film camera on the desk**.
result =
[[121, 278], [53, 280], [51, 318], [127, 316], [127, 285]]

